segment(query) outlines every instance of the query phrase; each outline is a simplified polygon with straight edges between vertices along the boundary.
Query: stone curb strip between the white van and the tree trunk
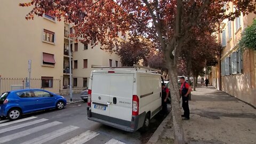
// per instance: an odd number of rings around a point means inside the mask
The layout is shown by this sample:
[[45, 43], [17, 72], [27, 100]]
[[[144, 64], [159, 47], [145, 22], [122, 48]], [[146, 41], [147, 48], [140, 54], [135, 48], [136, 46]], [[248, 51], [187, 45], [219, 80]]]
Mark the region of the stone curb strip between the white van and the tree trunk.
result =
[[166, 129], [166, 123], [170, 120], [172, 121], [172, 111], [170, 111], [170, 113], [164, 118], [164, 121], [157, 127], [147, 144], [157, 143], [158, 139], [163, 134], [163, 131]]

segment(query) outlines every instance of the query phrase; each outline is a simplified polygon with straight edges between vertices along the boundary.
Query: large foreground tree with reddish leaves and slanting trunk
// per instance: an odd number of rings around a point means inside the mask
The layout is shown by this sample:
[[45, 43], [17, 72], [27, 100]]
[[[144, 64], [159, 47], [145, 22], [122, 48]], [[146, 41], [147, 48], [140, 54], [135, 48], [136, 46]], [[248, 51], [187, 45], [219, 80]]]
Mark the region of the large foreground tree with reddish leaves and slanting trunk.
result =
[[[228, 4], [236, 5], [234, 11]], [[227, 4], [226, 10], [222, 7]], [[194, 34], [193, 29], [219, 29], [224, 20], [256, 11], [253, 0], [30, 0], [20, 6], [33, 5], [27, 19], [34, 14], [51, 13], [57, 19], [75, 23], [75, 35], [82, 42], [100, 43], [102, 49], [112, 49], [118, 41], [117, 31], [145, 36], [161, 46], [170, 74], [175, 142], [185, 143], [179, 110], [177, 61]], [[209, 29], [210, 28], [210, 29]], [[174, 53], [174, 54], [173, 54]], [[177, 128], [177, 129], [176, 129]], [[180, 135], [180, 137], [179, 137]]]

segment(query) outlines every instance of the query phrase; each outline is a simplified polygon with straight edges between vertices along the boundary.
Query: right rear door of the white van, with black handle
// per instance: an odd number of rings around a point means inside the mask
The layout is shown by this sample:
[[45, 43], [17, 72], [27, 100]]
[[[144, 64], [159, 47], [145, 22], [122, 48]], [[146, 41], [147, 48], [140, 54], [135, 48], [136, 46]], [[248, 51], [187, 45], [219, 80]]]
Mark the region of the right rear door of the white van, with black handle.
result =
[[131, 121], [134, 74], [110, 74], [109, 116]]

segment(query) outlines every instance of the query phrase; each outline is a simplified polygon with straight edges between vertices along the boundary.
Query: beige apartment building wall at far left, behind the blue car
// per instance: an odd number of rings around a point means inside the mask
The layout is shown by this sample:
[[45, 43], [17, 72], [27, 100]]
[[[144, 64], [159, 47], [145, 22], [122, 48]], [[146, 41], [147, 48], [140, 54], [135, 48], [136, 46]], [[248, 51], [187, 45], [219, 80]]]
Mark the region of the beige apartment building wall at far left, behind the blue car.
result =
[[21, 1], [3, 0], [0, 5], [0, 91], [10, 85], [23, 85], [29, 77], [31, 88], [59, 92], [63, 69], [63, 22], [50, 15], [26, 20], [31, 7], [20, 7]]

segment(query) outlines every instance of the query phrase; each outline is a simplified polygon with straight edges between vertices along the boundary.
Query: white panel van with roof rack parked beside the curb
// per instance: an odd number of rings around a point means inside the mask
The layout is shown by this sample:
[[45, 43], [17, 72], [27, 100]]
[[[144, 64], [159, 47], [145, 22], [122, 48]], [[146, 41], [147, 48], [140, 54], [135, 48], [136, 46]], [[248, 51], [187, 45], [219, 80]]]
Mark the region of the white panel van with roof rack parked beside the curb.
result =
[[91, 72], [89, 120], [129, 132], [147, 129], [150, 119], [161, 110], [161, 75], [138, 67]]

